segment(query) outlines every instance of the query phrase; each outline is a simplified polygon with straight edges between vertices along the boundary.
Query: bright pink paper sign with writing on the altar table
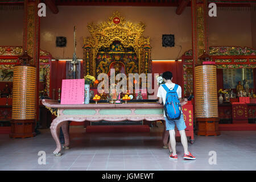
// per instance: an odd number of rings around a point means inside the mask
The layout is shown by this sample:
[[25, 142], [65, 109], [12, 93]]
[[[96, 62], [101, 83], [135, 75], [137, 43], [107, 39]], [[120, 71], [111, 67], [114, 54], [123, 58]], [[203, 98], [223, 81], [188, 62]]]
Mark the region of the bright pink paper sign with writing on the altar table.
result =
[[60, 104], [84, 104], [84, 79], [62, 80]]

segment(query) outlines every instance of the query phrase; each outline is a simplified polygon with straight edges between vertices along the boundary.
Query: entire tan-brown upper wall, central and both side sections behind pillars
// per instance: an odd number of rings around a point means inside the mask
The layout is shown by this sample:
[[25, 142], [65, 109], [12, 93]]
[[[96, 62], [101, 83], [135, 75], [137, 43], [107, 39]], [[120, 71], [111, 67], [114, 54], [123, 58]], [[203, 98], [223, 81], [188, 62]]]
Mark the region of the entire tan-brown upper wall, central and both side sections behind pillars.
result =
[[[119, 11], [126, 20], [146, 24], [144, 36], [150, 37], [152, 60], [176, 59], [192, 48], [191, 9], [187, 7], [176, 15], [176, 7], [120, 7], [120, 6], [59, 6], [59, 13], [41, 21], [40, 48], [55, 58], [71, 58], [73, 55], [73, 26], [77, 26], [77, 57], [82, 59], [83, 37], [90, 36], [87, 24], [108, 19], [113, 11]], [[217, 10], [217, 17], [209, 18], [209, 46], [255, 47], [255, 12]], [[0, 46], [22, 46], [23, 10], [0, 10]], [[175, 47], [162, 47], [162, 35], [174, 34]], [[3, 36], [2, 36], [3, 35]], [[55, 46], [56, 36], [67, 37], [67, 47]]]

